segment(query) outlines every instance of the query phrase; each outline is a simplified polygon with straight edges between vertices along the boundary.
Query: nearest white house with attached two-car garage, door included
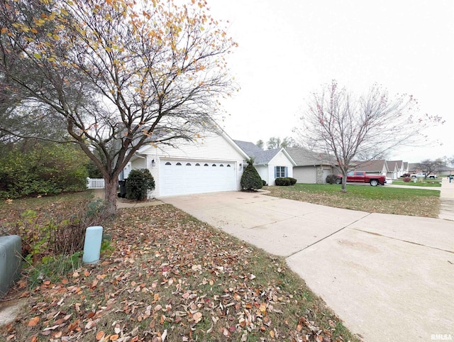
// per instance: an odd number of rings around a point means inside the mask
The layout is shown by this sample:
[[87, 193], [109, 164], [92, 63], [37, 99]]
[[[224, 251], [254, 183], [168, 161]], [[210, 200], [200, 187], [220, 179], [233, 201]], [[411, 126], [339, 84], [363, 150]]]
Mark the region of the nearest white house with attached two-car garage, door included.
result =
[[240, 190], [248, 155], [225, 132], [174, 143], [177, 148], [145, 145], [131, 158], [132, 170], [147, 168], [155, 178], [149, 197]]

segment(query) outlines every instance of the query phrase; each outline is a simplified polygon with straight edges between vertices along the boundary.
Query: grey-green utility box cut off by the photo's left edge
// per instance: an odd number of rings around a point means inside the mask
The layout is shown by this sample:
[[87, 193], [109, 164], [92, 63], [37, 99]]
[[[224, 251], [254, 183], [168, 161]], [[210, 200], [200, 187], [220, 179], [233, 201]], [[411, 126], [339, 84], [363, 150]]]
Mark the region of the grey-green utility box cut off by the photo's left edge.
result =
[[21, 237], [0, 236], [0, 298], [3, 298], [21, 275]]

